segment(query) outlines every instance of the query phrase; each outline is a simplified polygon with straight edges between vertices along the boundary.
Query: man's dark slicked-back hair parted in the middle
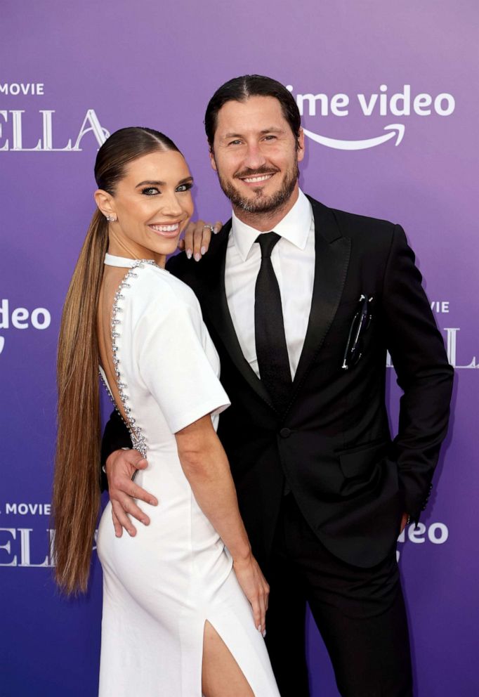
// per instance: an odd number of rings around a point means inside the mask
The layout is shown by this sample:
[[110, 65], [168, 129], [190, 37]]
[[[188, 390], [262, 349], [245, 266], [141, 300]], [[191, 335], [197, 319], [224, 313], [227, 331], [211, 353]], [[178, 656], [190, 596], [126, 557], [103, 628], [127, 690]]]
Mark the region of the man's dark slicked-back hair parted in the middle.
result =
[[209, 100], [204, 115], [204, 129], [208, 138], [209, 148], [213, 150], [214, 134], [218, 123], [218, 112], [226, 102], [245, 102], [249, 97], [274, 97], [281, 105], [284, 118], [293, 131], [296, 144], [298, 143], [299, 129], [301, 128], [301, 116], [294, 97], [284, 85], [272, 77], [264, 75], [242, 75], [233, 77], [224, 85], [218, 87]]

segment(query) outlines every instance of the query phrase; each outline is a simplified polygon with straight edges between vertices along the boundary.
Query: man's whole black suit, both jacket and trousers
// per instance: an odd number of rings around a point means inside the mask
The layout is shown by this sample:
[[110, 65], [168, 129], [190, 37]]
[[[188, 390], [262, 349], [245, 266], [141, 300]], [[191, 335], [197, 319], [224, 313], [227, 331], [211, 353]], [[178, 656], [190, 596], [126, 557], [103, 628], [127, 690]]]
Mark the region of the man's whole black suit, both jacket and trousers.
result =
[[[197, 294], [220, 356], [221, 382], [232, 405], [221, 415], [218, 436], [251, 547], [270, 582], [266, 639], [270, 646], [275, 641], [278, 651], [285, 647], [285, 653], [271, 651], [273, 667], [278, 679], [282, 672], [294, 678], [295, 691], [282, 697], [301, 697], [306, 689], [306, 600], [343, 695], [409, 697], [395, 545], [402, 513], [418, 520], [428, 500], [447, 432], [454, 371], [404, 230], [310, 202], [313, 298], [282, 414], [244, 358], [228, 310], [224, 277], [231, 221], [213, 237], [200, 263], [180, 254], [167, 268]], [[361, 295], [372, 299], [372, 320], [362, 339], [361, 360], [345, 371], [341, 365]], [[386, 351], [404, 391], [394, 441], [385, 400]], [[128, 438], [123, 424], [113, 426]], [[112, 439], [112, 429], [105, 438], [110, 442], [104, 443], [104, 452], [125, 442]], [[289, 512], [285, 480], [296, 501], [296, 510]], [[283, 538], [278, 538], [278, 521]], [[381, 604], [382, 613], [377, 612]], [[381, 682], [375, 686], [375, 663], [383, 663], [383, 682], [391, 673], [391, 689], [381, 686], [383, 693], [377, 691]]]

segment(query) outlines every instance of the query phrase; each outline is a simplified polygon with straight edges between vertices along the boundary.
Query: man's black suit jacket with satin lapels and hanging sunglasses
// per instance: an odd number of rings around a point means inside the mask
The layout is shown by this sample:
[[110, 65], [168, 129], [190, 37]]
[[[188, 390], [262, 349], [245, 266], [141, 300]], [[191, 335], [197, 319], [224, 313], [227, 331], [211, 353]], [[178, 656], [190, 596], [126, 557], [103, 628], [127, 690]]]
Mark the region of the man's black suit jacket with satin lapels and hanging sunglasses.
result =
[[[417, 521], [425, 507], [447, 431], [453, 371], [402, 228], [310, 202], [313, 301], [282, 414], [242, 355], [228, 311], [231, 221], [202, 261], [180, 254], [167, 268], [197, 294], [221, 358], [232, 405], [221, 415], [218, 436], [258, 560], [267, 568], [286, 478], [320, 541], [350, 564], [374, 566], [393, 549], [402, 513]], [[343, 370], [361, 294], [372, 297], [372, 320], [362, 358]], [[386, 350], [404, 391], [394, 441], [385, 404]], [[126, 429], [112, 417], [104, 455], [128, 444]]]

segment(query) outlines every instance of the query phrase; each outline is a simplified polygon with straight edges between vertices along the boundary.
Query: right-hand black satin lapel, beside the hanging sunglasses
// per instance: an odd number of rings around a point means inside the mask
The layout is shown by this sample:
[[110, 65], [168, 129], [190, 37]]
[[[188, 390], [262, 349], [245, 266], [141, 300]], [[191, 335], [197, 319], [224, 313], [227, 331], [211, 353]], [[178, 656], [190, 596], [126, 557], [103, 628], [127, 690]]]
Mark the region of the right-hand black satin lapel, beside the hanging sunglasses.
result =
[[342, 237], [332, 211], [315, 200], [310, 201], [315, 217], [315, 280], [308, 330], [294, 376], [291, 401], [296, 397], [332, 325], [350, 258], [350, 239]]

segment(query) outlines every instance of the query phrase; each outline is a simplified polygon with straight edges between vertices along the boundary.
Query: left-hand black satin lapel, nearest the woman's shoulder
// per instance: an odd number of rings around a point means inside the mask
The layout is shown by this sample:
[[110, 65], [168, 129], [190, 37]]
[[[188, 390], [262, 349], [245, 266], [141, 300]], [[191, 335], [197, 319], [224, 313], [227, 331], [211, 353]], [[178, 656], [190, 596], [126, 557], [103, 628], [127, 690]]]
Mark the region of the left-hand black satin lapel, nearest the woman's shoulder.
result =
[[211, 259], [211, 261], [214, 261], [214, 265], [211, 266], [211, 273], [209, 273], [209, 278], [204, 284], [205, 301], [203, 308], [211, 324], [214, 325], [216, 333], [223, 342], [223, 346], [232, 362], [235, 363], [240, 374], [242, 374], [242, 377], [244, 377], [249, 386], [274, 409], [271, 398], [265, 390], [263, 383], [243, 356], [235, 326], [232, 323], [230, 308], [228, 308], [228, 300], [226, 299], [225, 292], [225, 261], [230, 229], [231, 222], [229, 221], [229, 223], [226, 223], [223, 227], [222, 233], [224, 233], [224, 237], [222, 235], [223, 239], [220, 245], [215, 249], [215, 258], [214, 260]]

